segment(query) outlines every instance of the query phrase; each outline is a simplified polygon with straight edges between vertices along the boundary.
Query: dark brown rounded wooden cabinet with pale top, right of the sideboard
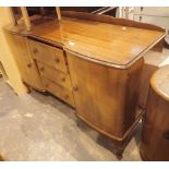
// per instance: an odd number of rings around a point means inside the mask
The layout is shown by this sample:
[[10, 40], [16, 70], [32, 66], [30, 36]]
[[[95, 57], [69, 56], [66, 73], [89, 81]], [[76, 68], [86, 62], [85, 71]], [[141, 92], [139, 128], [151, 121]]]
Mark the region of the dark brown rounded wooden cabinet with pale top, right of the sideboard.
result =
[[150, 80], [141, 156], [143, 160], [169, 160], [169, 65]]

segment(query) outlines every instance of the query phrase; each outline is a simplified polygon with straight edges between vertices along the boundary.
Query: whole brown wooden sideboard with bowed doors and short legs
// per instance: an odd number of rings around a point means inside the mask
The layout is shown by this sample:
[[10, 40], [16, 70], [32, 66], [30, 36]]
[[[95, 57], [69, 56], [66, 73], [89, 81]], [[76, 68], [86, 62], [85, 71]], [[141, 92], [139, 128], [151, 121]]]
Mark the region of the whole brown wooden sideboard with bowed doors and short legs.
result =
[[92, 128], [112, 138], [117, 157], [142, 118], [137, 106], [143, 56], [161, 50], [158, 26], [83, 12], [61, 21], [8, 26], [23, 82], [71, 105]]

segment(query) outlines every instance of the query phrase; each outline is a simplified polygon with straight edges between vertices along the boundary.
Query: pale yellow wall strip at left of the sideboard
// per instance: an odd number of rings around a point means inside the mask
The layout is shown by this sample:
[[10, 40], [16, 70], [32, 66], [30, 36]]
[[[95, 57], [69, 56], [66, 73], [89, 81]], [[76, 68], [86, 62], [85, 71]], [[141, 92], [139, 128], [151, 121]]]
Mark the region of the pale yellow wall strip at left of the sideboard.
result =
[[16, 62], [13, 58], [13, 53], [8, 45], [3, 27], [12, 23], [12, 16], [8, 7], [0, 7], [0, 61], [8, 75], [8, 81], [11, 87], [17, 95], [25, 94], [27, 92], [26, 86], [22, 83], [21, 74], [17, 69]]

